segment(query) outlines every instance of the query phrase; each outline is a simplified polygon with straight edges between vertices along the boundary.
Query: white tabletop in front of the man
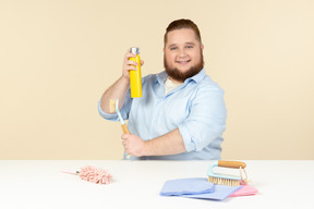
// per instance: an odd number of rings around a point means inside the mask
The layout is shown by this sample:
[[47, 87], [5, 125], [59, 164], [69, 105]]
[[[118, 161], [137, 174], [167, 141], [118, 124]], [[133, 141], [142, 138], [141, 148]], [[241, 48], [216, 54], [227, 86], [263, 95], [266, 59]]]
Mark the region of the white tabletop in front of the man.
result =
[[[245, 160], [244, 160], [245, 161]], [[314, 208], [314, 161], [245, 161], [255, 196], [224, 201], [162, 197], [168, 180], [207, 177], [210, 161], [0, 161], [0, 208]], [[98, 185], [60, 172], [94, 165], [112, 183]]]

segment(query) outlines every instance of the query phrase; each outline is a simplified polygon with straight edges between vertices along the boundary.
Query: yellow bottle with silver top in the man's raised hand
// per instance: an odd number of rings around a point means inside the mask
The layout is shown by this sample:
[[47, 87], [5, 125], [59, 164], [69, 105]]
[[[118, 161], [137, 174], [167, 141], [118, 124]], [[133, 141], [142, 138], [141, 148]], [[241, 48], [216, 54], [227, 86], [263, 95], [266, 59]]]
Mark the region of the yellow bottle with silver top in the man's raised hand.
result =
[[131, 97], [142, 97], [142, 75], [141, 75], [141, 58], [138, 56], [140, 48], [132, 47], [131, 53], [136, 54], [135, 58], [130, 58], [130, 60], [137, 62], [136, 71], [130, 71], [130, 87]]

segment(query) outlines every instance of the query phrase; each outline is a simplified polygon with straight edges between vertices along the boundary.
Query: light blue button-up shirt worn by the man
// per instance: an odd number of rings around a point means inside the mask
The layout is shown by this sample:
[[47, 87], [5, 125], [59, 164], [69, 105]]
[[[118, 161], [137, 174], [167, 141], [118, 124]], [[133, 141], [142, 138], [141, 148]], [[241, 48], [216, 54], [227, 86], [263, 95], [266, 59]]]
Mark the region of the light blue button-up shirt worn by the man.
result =
[[[226, 130], [227, 110], [224, 90], [206, 75], [198, 74], [165, 95], [164, 71], [142, 79], [141, 98], [131, 98], [130, 89], [121, 109], [132, 134], [149, 140], [179, 128], [186, 152], [169, 156], [131, 157], [149, 160], [213, 160], [220, 159], [222, 133]], [[118, 115], [105, 113], [102, 118], [118, 121]], [[125, 153], [124, 153], [125, 159]]]

